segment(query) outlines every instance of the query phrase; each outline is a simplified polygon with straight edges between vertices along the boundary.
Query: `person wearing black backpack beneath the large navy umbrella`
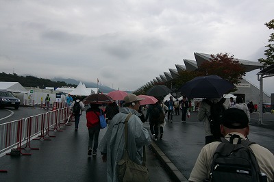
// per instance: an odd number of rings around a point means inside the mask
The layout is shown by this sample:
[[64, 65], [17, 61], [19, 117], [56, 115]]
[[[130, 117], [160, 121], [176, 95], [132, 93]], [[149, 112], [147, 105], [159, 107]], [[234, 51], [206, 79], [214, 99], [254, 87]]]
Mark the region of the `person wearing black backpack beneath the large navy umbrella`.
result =
[[222, 112], [226, 109], [223, 103], [225, 98], [203, 99], [200, 103], [198, 120], [205, 125], [206, 144], [220, 140], [222, 137], [220, 122]]

